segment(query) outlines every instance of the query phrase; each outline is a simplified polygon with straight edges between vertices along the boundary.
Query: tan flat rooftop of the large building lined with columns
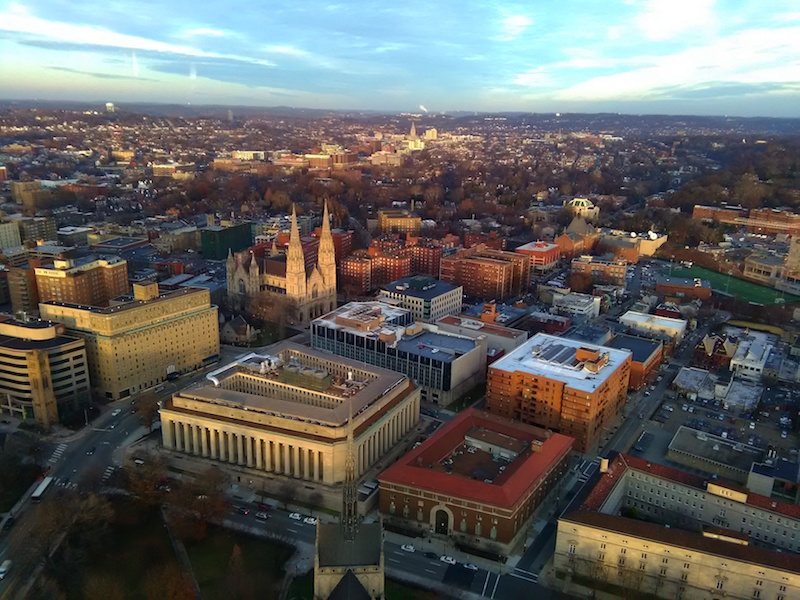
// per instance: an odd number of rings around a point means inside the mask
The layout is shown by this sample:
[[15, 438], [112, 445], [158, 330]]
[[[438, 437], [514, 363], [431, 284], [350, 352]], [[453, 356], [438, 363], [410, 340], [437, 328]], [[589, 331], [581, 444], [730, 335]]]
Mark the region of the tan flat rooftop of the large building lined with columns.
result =
[[[339, 367], [338, 373], [323, 372], [321, 365], [331, 360]], [[291, 367], [290, 373], [285, 372], [287, 367]], [[328, 381], [326, 375], [330, 375], [330, 383], [320, 389], [316, 384]], [[245, 387], [239, 383], [244, 379], [269, 381], [276, 391], [262, 395], [235, 389]], [[310, 385], [312, 382], [315, 385]], [[400, 385], [409, 385], [408, 378], [400, 373], [332, 357], [292, 342], [280, 342], [270, 347], [269, 355], [247, 354], [212, 371], [205, 380], [178, 392], [174, 401], [179, 403], [180, 398], [200, 400], [338, 427], [344, 425], [351, 414], [358, 416]], [[302, 397], [318, 405], [293, 399], [292, 394], [297, 390], [302, 390]]]

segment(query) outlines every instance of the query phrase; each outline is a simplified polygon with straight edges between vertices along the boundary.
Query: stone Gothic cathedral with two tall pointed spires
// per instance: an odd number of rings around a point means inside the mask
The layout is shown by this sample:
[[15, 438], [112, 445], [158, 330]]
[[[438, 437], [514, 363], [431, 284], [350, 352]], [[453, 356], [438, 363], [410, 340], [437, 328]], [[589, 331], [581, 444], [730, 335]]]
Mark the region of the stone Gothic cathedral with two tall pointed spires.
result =
[[292, 229], [286, 254], [272, 253], [262, 259], [245, 250], [228, 252], [226, 265], [228, 300], [233, 308], [247, 310], [265, 296], [279, 294], [291, 302], [294, 321], [307, 327], [312, 319], [336, 308], [336, 256], [328, 218], [328, 205], [322, 216], [317, 264], [306, 270], [297, 215], [292, 207]]

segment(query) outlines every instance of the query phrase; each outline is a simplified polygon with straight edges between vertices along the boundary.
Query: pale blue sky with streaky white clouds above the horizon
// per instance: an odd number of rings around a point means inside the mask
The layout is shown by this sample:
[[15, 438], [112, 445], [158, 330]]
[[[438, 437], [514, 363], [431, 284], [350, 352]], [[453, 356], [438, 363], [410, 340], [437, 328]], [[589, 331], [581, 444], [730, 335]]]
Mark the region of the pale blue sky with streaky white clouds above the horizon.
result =
[[800, 2], [0, 0], [0, 98], [800, 117]]

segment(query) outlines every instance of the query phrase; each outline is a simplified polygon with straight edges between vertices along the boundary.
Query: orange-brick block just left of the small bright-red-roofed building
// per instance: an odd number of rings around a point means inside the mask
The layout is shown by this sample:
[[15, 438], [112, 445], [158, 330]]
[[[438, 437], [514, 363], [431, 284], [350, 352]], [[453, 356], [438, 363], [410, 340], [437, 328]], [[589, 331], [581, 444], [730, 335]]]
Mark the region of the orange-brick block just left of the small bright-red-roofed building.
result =
[[442, 257], [440, 279], [462, 286], [465, 296], [501, 301], [527, 291], [530, 257], [473, 246]]

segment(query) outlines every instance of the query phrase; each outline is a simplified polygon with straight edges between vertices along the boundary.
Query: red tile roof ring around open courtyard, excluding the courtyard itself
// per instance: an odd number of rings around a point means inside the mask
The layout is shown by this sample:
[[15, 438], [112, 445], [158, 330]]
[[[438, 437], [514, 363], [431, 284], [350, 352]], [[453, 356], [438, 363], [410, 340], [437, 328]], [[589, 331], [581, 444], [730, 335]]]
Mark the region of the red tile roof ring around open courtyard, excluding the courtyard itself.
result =
[[[436, 464], [441, 461], [464, 442], [464, 435], [473, 427], [484, 427], [528, 442], [540, 440], [543, 442], [541, 451], [520, 455], [492, 483], [418, 466], [418, 464]], [[386, 469], [378, 480], [381, 483], [408, 486], [463, 500], [512, 508], [524, 498], [528, 490], [540, 484], [547, 473], [569, 453], [574, 442], [573, 438], [565, 435], [552, 433], [548, 437], [548, 434], [538, 427], [469, 409], [442, 426], [418, 448]]]

